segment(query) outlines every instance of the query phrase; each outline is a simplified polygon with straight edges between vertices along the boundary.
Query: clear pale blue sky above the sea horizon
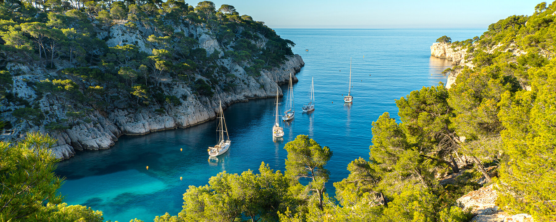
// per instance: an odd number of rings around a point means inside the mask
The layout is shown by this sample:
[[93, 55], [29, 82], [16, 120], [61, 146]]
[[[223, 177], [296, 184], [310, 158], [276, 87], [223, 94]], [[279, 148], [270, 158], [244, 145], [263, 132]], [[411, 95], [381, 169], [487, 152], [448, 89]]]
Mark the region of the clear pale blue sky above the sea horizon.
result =
[[[188, 1], [193, 6], [197, 1]], [[199, 1], [200, 2], [200, 1]], [[215, 0], [270, 28], [487, 28], [514, 14], [530, 15], [541, 1]], [[552, 2], [548, 2], [549, 4]]]

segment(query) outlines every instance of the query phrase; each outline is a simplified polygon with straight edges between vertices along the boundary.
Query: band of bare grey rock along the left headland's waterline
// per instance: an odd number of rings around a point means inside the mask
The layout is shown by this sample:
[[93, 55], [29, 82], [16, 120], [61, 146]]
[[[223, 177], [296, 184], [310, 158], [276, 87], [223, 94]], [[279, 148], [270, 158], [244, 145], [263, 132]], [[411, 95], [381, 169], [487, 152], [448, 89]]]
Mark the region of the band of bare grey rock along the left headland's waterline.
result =
[[[80, 124], [65, 132], [53, 134], [58, 139], [57, 147], [53, 148], [53, 154], [57, 158], [70, 158], [75, 155], [76, 150], [85, 149], [108, 149], [118, 140], [121, 135], [143, 135], [166, 129], [187, 128], [192, 125], [207, 122], [216, 117], [219, 99], [228, 107], [235, 102], [245, 99], [266, 98], [276, 94], [279, 84], [289, 82], [289, 74], [295, 82], [298, 73], [305, 63], [299, 55], [291, 56], [280, 68], [274, 68], [263, 72], [259, 79], [251, 78], [252, 86], [244, 85], [234, 90], [235, 92], [221, 92], [220, 98], [215, 94], [212, 98], [198, 97], [193, 95], [191, 89], [182, 85], [175, 85], [173, 89], [165, 89], [175, 94], [186, 94], [187, 100], [182, 105], [163, 107], [163, 113], [157, 113], [155, 108], [144, 108], [135, 110], [132, 108], [118, 108], [108, 110], [106, 114], [93, 112], [88, 115], [97, 124]], [[280, 94], [282, 94], [281, 89]], [[52, 108], [52, 107], [51, 107]]]

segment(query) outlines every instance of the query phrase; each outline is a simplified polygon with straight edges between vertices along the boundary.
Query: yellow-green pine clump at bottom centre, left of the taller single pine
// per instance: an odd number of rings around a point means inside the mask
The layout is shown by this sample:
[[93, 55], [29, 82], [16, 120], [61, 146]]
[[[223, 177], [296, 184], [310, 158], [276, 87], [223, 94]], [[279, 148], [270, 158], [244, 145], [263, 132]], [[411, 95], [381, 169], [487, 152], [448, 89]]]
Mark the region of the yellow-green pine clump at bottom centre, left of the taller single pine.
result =
[[[285, 211], [292, 196], [289, 180], [280, 171], [261, 163], [259, 174], [225, 172], [213, 176], [210, 185], [189, 186], [183, 194], [187, 221], [276, 221], [277, 211]], [[178, 215], [177, 218], [180, 218]]]

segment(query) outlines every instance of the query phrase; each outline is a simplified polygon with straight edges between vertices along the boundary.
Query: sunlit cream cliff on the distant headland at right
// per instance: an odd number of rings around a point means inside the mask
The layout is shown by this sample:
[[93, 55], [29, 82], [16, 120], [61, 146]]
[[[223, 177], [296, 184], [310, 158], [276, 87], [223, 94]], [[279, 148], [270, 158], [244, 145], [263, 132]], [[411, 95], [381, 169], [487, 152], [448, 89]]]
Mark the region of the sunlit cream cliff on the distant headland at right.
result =
[[[451, 48], [451, 44], [449, 43], [433, 43], [433, 45], [430, 46], [430, 54], [431, 56], [451, 60], [454, 65], [466, 65], [469, 68], [473, 68], [473, 63], [470, 60], [465, 60], [465, 57], [469, 56], [470, 53], [465, 52], [465, 49], [461, 49], [461, 47]], [[457, 76], [457, 72], [450, 73], [450, 75], [448, 75], [448, 80], [446, 80], [446, 89], [449, 89], [451, 85], [455, 83]]]

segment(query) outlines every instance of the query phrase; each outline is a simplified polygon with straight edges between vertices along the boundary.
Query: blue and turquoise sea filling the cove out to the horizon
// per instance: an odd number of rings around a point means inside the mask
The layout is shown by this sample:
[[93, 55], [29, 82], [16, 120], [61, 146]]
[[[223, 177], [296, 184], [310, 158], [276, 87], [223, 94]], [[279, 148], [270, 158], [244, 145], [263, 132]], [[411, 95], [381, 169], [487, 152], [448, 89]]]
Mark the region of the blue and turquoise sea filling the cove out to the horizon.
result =
[[[307, 134], [334, 152], [326, 166], [331, 172], [328, 192], [334, 195], [332, 183], [347, 176], [347, 164], [369, 157], [371, 123], [383, 112], [398, 117], [394, 99], [445, 82], [440, 72], [450, 62], [430, 56], [429, 47], [436, 38], [447, 35], [461, 41], [484, 31], [276, 29], [282, 38], [296, 43], [294, 53], [305, 61], [294, 84], [296, 116], [284, 125], [283, 141], [272, 141], [274, 99], [252, 99], [225, 110], [232, 144], [217, 160], [208, 161], [206, 152], [216, 143], [215, 120], [186, 129], [123, 136], [111, 149], [78, 152], [61, 162], [56, 173], [67, 178], [61, 193], [68, 204], [102, 210], [105, 220], [152, 221], [165, 212], [176, 215], [188, 186], [207, 184], [221, 171], [256, 170], [261, 162], [283, 171], [284, 144]], [[350, 57], [354, 102], [348, 106], [342, 94], [348, 90]], [[316, 106], [307, 114], [301, 107], [308, 102], [311, 77], [315, 78]]]

